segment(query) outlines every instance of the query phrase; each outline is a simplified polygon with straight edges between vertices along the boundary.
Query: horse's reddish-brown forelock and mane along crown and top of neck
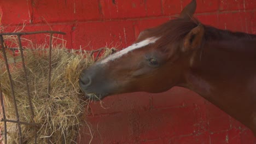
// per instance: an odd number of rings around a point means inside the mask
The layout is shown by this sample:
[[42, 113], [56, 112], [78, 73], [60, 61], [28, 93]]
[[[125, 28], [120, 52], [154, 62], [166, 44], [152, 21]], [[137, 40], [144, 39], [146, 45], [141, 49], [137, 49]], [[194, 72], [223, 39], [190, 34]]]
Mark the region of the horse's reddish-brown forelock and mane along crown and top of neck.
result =
[[[181, 41], [191, 29], [199, 25], [199, 20], [193, 18], [190, 20], [176, 18], [170, 20], [162, 25], [149, 29], [150, 36], [162, 37], [159, 45], [164, 46], [168, 43]], [[212, 26], [203, 25], [205, 27], [204, 42], [215, 40], [241, 40], [241, 39], [256, 39], [255, 34], [248, 34], [243, 32], [232, 32], [229, 30], [218, 29]]]

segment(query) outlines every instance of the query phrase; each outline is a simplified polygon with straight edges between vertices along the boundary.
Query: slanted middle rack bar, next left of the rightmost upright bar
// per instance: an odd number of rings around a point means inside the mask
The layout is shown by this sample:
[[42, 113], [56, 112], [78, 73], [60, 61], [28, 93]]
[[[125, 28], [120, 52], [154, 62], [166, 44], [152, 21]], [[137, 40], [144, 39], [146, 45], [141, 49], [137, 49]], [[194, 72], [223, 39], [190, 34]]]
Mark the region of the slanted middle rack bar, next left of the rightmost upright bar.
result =
[[[30, 96], [30, 88], [28, 86], [28, 80], [27, 80], [27, 71], [26, 71], [26, 66], [25, 66], [25, 60], [24, 60], [24, 55], [23, 55], [23, 49], [22, 49], [22, 45], [21, 45], [21, 39], [20, 39], [20, 35], [18, 35], [18, 44], [19, 44], [19, 48], [20, 48], [20, 55], [21, 55], [21, 59], [22, 59], [22, 67], [24, 70], [24, 74], [25, 74], [25, 78], [26, 78], [26, 87], [27, 87], [27, 98], [28, 98], [28, 103], [30, 104], [30, 112], [31, 112], [31, 119], [32, 122], [34, 122], [34, 111], [33, 111], [33, 107], [32, 107], [32, 103], [31, 103], [31, 96]], [[37, 143], [37, 129], [35, 129], [36, 133], [34, 135], [34, 143]]]

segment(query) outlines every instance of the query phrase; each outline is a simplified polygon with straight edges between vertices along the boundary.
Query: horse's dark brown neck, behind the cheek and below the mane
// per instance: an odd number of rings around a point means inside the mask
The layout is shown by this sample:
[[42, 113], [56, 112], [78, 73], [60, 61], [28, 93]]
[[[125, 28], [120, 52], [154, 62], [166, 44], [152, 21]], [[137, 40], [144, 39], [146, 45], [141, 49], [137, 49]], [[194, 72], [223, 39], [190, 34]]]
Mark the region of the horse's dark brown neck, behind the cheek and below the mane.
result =
[[191, 56], [184, 87], [249, 127], [248, 119], [256, 109], [256, 91], [247, 89], [256, 83], [255, 45], [256, 39], [206, 41]]

